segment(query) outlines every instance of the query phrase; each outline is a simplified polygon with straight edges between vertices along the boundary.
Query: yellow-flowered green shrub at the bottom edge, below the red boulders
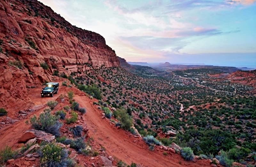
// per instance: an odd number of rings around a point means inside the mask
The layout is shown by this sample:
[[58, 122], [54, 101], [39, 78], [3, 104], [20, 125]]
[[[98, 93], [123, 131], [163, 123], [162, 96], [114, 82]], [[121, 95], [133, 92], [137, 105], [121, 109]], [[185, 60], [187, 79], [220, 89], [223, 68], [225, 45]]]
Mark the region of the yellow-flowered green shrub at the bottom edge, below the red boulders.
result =
[[68, 150], [55, 143], [47, 143], [39, 151], [41, 166], [66, 167], [68, 166]]

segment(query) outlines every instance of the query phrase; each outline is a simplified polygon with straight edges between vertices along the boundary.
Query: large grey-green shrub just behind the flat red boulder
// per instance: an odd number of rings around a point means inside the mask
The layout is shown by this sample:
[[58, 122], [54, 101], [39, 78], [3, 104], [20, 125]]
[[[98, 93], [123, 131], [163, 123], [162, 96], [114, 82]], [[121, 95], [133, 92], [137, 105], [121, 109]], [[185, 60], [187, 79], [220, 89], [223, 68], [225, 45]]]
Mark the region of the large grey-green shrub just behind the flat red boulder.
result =
[[62, 124], [59, 122], [59, 118], [59, 116], [52, 115], [50, 109], [46, 109], [39, 115], [38, 118], [36, 118], [36, 115], [30, 118], [30, 123], [36, 130], [52, 133], [56, 137], [59, 137], [60, 127], [62, 126]]

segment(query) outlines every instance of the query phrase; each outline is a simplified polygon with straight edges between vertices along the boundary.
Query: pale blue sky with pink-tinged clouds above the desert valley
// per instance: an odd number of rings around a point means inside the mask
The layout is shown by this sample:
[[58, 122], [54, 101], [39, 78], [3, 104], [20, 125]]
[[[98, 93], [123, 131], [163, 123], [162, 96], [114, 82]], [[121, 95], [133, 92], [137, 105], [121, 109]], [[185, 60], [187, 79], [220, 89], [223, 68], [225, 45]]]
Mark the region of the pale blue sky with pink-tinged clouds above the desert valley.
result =
[[256, 0], [39, 0], [132, 62], [256, 68]]

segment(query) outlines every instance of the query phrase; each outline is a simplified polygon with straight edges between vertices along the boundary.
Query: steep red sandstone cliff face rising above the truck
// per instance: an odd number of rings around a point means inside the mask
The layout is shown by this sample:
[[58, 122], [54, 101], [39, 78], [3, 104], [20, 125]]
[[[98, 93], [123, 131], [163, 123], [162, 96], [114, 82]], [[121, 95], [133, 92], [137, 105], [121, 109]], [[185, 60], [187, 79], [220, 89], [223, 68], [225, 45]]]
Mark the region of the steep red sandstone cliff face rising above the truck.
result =
[[8, 98], [29, 101], [26, 87], [51, 81], [54, 71], [70, 74], [101, 66], [120, 63], [100, 34], [72, 26], [36, 0], [0, 0], [1, 106]]

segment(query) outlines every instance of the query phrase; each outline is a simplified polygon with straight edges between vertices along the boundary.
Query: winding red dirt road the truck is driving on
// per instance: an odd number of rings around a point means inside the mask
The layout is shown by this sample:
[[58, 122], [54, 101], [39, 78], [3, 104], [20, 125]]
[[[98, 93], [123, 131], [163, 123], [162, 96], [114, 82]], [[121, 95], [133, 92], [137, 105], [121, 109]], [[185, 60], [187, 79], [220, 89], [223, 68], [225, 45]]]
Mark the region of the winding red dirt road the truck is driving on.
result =
[[[135, 138], [131, 133], [122, 129], [117, 129], [110, 123], [109, 119], [102, 119], [102, 111], [92, 105], [93, 101], [96, 100], [91, 100], [84, 92], [76, 88], [60, 86], [58, 95], [49, 98], [41, 98], [39, 93], [41, 87], [33, 88], [30, 90], [30, 98], [35, 105], [42, 105], [46, 104], [47, 101], [56, 99], [60, 94], [66, 94], [69, 90], [75, 93], [74, 99], [80, 104], [80, 107], [84, 107], [87, 110], [84, 115], [84, 121], [89, 129], [89, 136], [106, 148], [106, 152], [114, 158], [122, 160], [127, 164], [134, 162], [149, 167], [210, 166], [207, 160], [198, 160], [196, 163], [193, 163], [184, 161], [178, 154], [170, 153], [164, 156], [163, 150], [157, 147], [154, 151], [150, 151], [142, 139]], [[34, 114], [39, 115], [42, 110], [38, 109], [31, 113], [30, 116]], [[19, 120], [0, 130], [0, 149], [6, 145], [17, 146], [17, 141], [21, 135], [30, 128], [30, 125], [26, 125], [25, 121], [26, 119]]]

